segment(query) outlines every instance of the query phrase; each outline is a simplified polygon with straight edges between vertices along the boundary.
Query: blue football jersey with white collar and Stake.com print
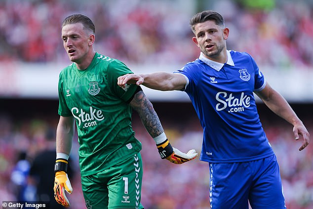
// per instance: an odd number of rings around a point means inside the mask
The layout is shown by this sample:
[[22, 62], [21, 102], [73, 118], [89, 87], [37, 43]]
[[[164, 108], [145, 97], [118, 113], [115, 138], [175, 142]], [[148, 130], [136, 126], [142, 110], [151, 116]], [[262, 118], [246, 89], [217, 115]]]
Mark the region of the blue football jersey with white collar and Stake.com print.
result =
[[201, 161], [245, 162], [274, 154], [257, 112], [253, 91], [266, 81], [247, 53], [227, 51], [225, 64], [200, 54], [181, 70], [203, 128]]

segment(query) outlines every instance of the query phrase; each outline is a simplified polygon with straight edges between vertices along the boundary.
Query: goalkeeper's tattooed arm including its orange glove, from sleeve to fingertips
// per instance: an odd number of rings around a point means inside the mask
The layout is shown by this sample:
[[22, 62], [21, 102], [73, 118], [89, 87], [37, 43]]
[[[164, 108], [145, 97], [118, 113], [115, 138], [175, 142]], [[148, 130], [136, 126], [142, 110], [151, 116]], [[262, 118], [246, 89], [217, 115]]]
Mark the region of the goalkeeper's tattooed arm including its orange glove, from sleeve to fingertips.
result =
[[134, 95], [130, 106], [138, 112], [141, 122], [146, 127], [148, 133], [154, 138], [162, 159], [167, 159], [174, 164], [182, 164], [196, 158], [198, 155], [196, 150], [190, 150], [185, 154], [171, 146], [152, 103], [142, 90]]

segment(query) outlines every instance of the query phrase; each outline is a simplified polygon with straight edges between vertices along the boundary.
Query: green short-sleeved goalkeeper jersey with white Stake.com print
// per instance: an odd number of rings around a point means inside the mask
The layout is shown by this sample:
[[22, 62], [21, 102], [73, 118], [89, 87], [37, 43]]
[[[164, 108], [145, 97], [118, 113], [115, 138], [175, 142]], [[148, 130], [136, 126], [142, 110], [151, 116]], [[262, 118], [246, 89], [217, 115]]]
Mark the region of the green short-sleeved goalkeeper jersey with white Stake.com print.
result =
[[73, 63], [60, 73], [58, 112], [76, 119], [82, 176], [109, 168], [141, 150], [127, 102], [138, 86], [117, 85], [117, 78], [129, 73], [121, 61], [99, 53], [87, 69], [79, 71]]

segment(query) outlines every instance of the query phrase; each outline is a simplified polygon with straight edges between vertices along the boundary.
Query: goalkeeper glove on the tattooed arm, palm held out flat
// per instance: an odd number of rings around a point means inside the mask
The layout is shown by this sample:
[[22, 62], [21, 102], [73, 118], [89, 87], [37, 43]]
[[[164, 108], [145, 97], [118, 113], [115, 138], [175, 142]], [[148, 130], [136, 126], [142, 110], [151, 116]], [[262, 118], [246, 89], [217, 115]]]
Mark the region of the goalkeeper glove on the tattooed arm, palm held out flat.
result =
[[183, 164], [188, 161], [194, 160], [198, 153], [196, 150], [190, 150], [187, 154], [182, 153], [176, 148], [173, 148], [169, 143], [168, 139], [157, 144], [158, 153], [161, 156], [161, 159], [166, 159], [174, 164]]

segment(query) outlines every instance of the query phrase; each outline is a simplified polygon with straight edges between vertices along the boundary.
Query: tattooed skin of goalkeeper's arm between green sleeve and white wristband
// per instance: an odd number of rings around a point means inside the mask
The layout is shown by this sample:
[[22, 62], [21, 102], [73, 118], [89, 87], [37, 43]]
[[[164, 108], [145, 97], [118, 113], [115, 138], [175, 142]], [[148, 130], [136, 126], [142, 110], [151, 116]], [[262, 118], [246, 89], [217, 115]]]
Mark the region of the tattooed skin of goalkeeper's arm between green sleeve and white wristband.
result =
[[141, 122], [153, 138], [164, 132], [152, 103], [143, 91], [138, 91], [129, 104], [138, 112]]

